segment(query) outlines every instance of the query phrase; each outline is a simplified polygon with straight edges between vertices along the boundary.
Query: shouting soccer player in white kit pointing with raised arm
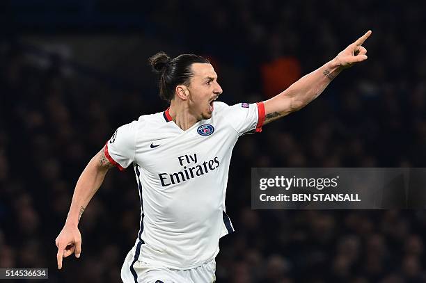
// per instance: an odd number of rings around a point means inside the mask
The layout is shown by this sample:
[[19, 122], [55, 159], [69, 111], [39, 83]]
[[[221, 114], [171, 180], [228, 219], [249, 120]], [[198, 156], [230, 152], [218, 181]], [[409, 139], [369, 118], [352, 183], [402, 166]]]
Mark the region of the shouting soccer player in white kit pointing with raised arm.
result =
[[119, 127], [81, 173], [65, 225], [56, 238], [63, 257], [81, 254], [78, 223], [114, 165], [132, 165], [141, 202], [136, 243], [121, 270], [123, 282], [214, 282], [219, 238], [233, 232], [225, 209], [232, 148], [244, 134], [298, 111], [318, 97], [345, 68], [367, 59], [361, 38], [336, 58], [275, 97], [254, 104], [217, 102], [222, 88], [203, 57], [164, 53], [150, 58], [164, 112], [141, 115]]

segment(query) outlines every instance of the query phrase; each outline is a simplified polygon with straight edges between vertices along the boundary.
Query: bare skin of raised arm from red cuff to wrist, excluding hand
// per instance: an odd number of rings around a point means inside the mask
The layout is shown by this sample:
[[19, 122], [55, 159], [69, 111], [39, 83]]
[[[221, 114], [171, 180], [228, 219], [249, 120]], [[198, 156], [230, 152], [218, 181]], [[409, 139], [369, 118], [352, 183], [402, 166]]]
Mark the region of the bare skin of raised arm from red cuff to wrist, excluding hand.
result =
[[310, 74], [301, 77], [280, 94], [263, 102], [265, 105], [265, 122], [263, 124], [298, 111], [312, 102], [341, 71], [340, 65], [333, 59]]

